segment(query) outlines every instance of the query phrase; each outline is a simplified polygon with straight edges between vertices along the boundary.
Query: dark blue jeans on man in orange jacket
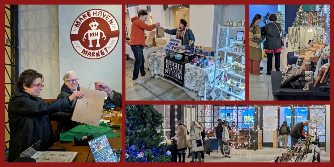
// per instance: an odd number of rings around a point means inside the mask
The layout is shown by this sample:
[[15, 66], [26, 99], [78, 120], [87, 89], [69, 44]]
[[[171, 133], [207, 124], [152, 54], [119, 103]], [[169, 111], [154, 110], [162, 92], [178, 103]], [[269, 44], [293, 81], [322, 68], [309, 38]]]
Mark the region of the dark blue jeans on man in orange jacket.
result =
[[142, 76], [146, 75], [144, 68], [145, 59], [142, 45], [131, 45], [131, 49], [136, 59], [135, 66], [133, 68], [133, 78], [132, 78], [133, 80], [135, 80], [138, 78], [139, 70]]

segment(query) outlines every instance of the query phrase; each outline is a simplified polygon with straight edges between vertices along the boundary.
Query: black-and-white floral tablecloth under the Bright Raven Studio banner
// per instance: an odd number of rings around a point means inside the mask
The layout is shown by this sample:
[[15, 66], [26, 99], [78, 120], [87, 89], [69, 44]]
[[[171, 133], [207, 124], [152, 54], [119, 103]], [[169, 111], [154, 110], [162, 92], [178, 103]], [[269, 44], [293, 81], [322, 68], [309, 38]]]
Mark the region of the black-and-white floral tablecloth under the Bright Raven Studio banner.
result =
[[[167, 56], [165, 52], [156, 52], [150, 54], [148, 61], [152, 77], [164, 78], [164, 57]], [[222, 72], [216, 71], [216, 79], [221, 76]], [[184, 72], [184, 86], [180, 87], [171, 80], [177, 87], [185, 90], [194, 100], [205, 100], [212, 97], [213, 81], [214, 81], [214, 65], [204, 66], [203, 68], [187, 63]]]

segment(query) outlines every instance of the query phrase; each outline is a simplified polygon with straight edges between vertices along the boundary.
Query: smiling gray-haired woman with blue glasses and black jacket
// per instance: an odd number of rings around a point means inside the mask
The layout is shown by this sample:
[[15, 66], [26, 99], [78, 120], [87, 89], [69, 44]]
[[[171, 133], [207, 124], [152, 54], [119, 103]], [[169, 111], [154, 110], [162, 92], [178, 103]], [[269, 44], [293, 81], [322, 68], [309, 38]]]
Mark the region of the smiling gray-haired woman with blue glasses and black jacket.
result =
[[[60, 89], [60, 94], [58, 95], [57, 99], [70, 97], [74, 91], [80, 91], [78, 78], [76, 77], [75, 72], [68, 71], [63, 76], [64, 84], [62, 85]], [[72, 101], [73, 102], [73, 101]], [[69, 103], [70, 106], [72, 106], [72, 102]], [[63, 112], [73, 114], [73, 111], [69, 111], [70, 109], [66, 109]], [[60, 133], [64, 131], [68, 131], [76, 126], [78, 126], [79, 123], [76, 123], [74, 121], [68, 121], [68, 122], [58, 122], [57, 123], [57, 131], [58, 133], [55, 133], [57, 142], [60, 139]]]

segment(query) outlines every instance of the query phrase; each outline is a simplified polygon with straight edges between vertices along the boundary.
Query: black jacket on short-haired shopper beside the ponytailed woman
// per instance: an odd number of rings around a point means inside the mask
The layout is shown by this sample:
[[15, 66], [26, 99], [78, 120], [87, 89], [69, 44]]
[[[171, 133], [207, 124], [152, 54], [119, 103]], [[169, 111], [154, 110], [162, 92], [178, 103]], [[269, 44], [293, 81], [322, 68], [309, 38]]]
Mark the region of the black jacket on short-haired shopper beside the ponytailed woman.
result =
[[[276, 27], [276, 25], [277, 27]], [[264, 42], [264, 49], [279, 49], [282, 47], [281, 25], [279, 23], [268, 23], [265, 25], [264, 35], [266, 35], [266, 41]]]

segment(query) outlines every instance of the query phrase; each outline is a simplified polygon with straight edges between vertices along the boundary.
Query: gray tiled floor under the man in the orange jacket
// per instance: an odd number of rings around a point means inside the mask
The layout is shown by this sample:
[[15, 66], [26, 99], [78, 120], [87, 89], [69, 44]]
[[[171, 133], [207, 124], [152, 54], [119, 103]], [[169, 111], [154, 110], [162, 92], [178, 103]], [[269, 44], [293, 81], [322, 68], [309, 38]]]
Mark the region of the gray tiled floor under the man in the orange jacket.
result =
[[[166, 45], [158, 44], [159, 46]], [[134, 59], [125, 60], [126, 100], [194, 100], [184, 90], [162, 79], [146, 78], [143, 79], [145, 81], [143, 84], [133, 83], [134, 63]], [[150, 70], [145, 70], [145, 72], [151, 75]]]

